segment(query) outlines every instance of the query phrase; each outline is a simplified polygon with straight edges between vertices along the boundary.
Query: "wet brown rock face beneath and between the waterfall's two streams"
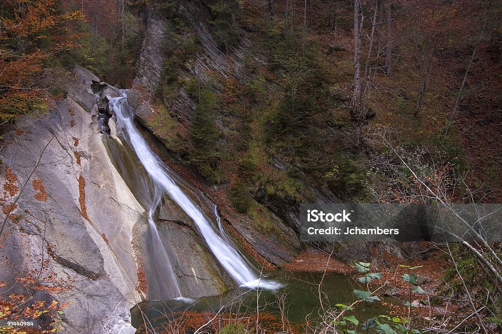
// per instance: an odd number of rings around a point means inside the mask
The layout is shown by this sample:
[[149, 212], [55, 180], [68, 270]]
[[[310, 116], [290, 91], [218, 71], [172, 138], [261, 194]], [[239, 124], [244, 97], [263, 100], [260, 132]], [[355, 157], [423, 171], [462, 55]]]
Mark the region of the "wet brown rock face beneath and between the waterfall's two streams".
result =
[[[112, 120], [110, 124], [113, 124]], [[106, 140], [109, 155], [134, 196], [143, 207], [148, 208], [152, 200], [150, 177], [133, 149], [128, 145], [121, 145], [121, 142], [116, 130], [112, 130], [111, 136]], [[207, 248], [192, 219], [174, 201], [165, 196], [153, 217], [170, 260], [169, 266], [172, 266], [177, 276], [183, 296], [213, 296], [234, 286]], [[163, 287], [167, 281], [163, 277], [168, 274], [166, 264], [156, 256], [160, 250], [152, 249], [155, 240], [152, 240], [146, 216], [142, 223], [134, 226], [133, 234], [135, 251], [139, 257], [139, 271], [146, 278], [146, 284], [142, 288], [146, 298], [176, 297], [172, 289]]]

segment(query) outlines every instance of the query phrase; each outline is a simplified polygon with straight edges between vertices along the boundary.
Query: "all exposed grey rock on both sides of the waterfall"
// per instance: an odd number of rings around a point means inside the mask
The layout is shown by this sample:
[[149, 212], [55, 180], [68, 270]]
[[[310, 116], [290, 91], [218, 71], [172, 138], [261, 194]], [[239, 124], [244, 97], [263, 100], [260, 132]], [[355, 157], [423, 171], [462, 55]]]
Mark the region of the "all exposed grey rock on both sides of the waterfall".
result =
[[[240, 83], [254, 79], [245, 71], [246, 58], [254, 52], [245, 36], [223, 52], [204, 20], [199, 20], [200, 15], [207, 17], [204, 10], [189, 2], [182, 2], [180, 10], [191, 22], [202, 48], [194, 63], [187, 65], [198, 82], [215, 75]], [[150, 16], [138, 77], [128, 94], [138, 121], [151, 133], [156, 132], [149, 119], [158, 112], [152, 108], [151, 94], [161, 84], [166, 55], [178, 43], [166, 25], [165, 18]], [[265, 59], [254, 54], [253, 62], [263, 65]], [[4, 193], [4, 207], [17, 196], [19, 200], [15, 210], [7, 212], [12, 234], [3, 248], [7, 257], [0, 261], [9, 270], [0, 272], [0, 281], [10, 282], [4, 288], [19, 293], [33, 292], [13, 282], [20, 271], [36, 269], [42, 256], [48, 259], [44, 270], [73, 282], [72, 288], [52, 295], [60, 302], [71, 302], [61, 316], [65, 332], [133, 333], [131, 307], [146, 299], [173, 297], [163, 288], [163, 263], [152, 249], [146, 219], [149, 177], [132, 149], [120, 139], [113, 117], [104, 118], [105, 96], [117, 96], [118, 90], [101, 84], [78, 66], [61, 84], [67, 96], [54, 101], [46, 114], [20, 120], [15, 131], [6, 136], [9, 145], [1, 151], [6, 173], [0, 184], [6, 190], [14, 189]], [[164, 103], [179, 129], [190, 126], [196, 102], [183, 87], [176, 99]], [[216, 123], [228, 130], [220, 117]], [[165, 138], [157, 135], [159, 143], [146, 136], [161, 156], [170, 157], [172, 152], [162, 144]], [[289, 162], [274, 159], [278, 172], [290, 167]], [[230, 234], [258, 266], [282, 266], [299, 254], [297, 201], [258, 192], [256, 200], [270, 210], [262, 221], [261, 217], [236, 212], [227, 198], [228, 185], [211, 184], [183, 165], [166, 162], [218, 205]], [[14, 183], [18, 188], [13, 188]], [[324, 187], [302, 186], [311, 202], [343, 198]], [[184, 296], [218, 295], [234, 286], [191, 219], [174, 202], [164, 198], [155, 219]], [[50, 297], [40, 294], [36, 299]]]

